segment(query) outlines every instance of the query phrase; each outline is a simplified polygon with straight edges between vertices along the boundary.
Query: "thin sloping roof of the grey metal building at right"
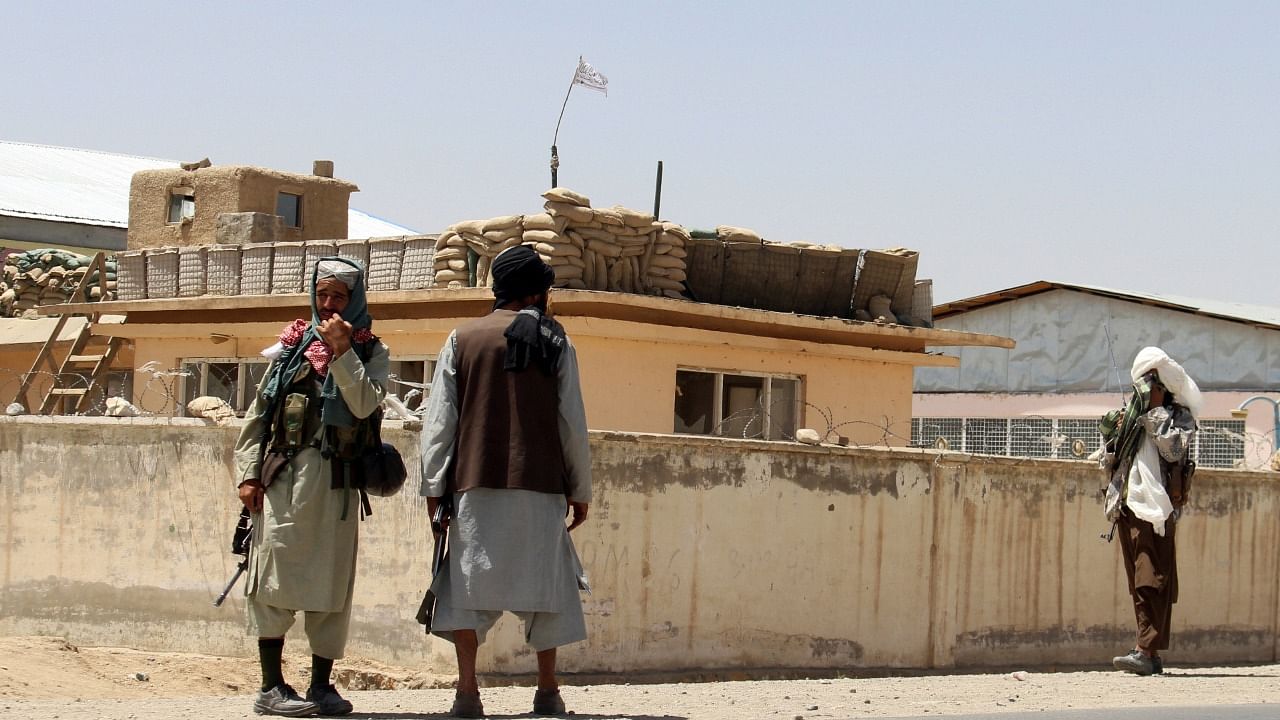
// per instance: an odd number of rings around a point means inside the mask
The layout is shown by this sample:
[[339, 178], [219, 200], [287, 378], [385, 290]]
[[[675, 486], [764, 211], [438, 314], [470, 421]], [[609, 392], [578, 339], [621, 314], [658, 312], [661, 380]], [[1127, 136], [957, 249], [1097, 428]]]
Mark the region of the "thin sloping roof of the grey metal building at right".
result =
[[1245, 305], [1243, 302], [1225, 302], [1221, 300], [1204, 300], [1199, 297], [1187, 297], [1181, 295], [1156, 295], [1149, 292], [1133, 292], [1128, 290], [1115, 290], [1108, 287], [1078, 284], [1078, 283], [1062, 283], [1053, 281], [1037, 281], [1033, 283], [1020, 284], [1018, 287], [1011, 287], [1007, 290], [998, 290], [996, 292], [988, 292], [986, 295], [977, 295], [974, 297], [966, 297], [964, 300], [945, 302], [942, 305], [937, 305], [933, 307], [933, 319], [938, 320], [948, 315], [965, 313], [968, 310], [974, 310], [978, 307], [986, 307], [988, 305], [996, 305], [998, 302], [1016, 300], [1019, 297], [1039, 295], [1041, 292], [1048, 292], [1051, 290], [1074, 290], [1079, 292], [1088, 292], [1092, 295], [1115, 297], [1117, 300], [1128, 300], [1130, 302], [1140, 302], [1143, 305], [1155, 305], [1158, 307], [1166, 307], [1169, 310], [1180, 310], [1184, 313], [1194, 313], [1197, 315], [1207, 315], [1211, 318], [1222, 318], [1225, 320], [1234, 320], [1238, 323], [1249, 323], [1254, 325], [1280, 328], [1280, 307], [1267, 307], [1263, 305]]

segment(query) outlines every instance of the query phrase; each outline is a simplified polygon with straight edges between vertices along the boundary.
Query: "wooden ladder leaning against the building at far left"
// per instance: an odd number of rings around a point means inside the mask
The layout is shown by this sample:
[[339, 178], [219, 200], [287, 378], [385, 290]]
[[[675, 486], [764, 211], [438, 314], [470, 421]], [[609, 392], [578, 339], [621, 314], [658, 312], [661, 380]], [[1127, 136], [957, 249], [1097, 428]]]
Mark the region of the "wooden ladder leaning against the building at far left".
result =
[[[90, 278], [95, 273], [97, 275], [99, 299], [106, 297], [106, 255], [97, 252], [90, 260], [84, 277], [76, 286], [70, 297], [67, 299], [67, 304], [90, 301], [88, 288], [92, 284], [90, 283]], [[29, 410], [31, 405], [27, 404], [27, 395], [41, 372], [49, 372], [52, 375], [52, 383], [46, 389], [45, 397], [40, 404], [40, 415], [84, 413], [90, 409], [90, 391], [100, 384], [104, 386], [105, 395], [104, 379], [123, 341], [118, 337], [109, 337], [105, 346], [90, 350], [93, 325], [97, 323], [100, 315], [96, 311], [84, 315], [86, 323], [72, 341], [70, 350], [63, 357], [61, 363], [55, 363], [54, 347], [58, 345], [58, 338], [63, 334], [67, 320], [77, 316], [72, 313], [59, 314], [58, 323], [54, 324], [54, 331], [45, 340], [45, 345], [40, 348], [40, 352], [36, 354], [36, 360], [31, 364], [31, 370], [23, 375], [22, 383], [18, 386], [18, 392], [14, 393], [13, 402], [18, 402]], [[87, 350], [90, 351], [86, 352]], [[74, 383], [72, 382], [73, 378], [84, 378], [84, 382]]]

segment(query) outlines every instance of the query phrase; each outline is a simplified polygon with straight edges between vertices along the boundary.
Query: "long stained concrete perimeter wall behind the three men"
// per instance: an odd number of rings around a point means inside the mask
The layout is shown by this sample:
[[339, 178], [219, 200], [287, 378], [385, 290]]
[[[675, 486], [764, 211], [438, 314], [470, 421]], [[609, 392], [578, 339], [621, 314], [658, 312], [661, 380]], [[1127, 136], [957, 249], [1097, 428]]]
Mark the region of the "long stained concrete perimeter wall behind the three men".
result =
[[[236, 428], [196, 420], [0, 418], [0, 633], [248, 655], [230, 575]], [[387, 433], [416, 461], [416, 434]], [[590, 639], [568, 671], [1097, 664], [1133, 643], [1098, 471], [668, 436], [593, 436], [596, 501], [573, 538]], [[1276, 660], [1280, 497], [1204, 471], [1179, 527], [1178, 662]], [[416, 479], [410, 480], [411, 486]], [[374, 498], [351, 651], [449, 671], [412, 620], [425, 502]], [[486, 673], [530, 671], [518, 624]]]

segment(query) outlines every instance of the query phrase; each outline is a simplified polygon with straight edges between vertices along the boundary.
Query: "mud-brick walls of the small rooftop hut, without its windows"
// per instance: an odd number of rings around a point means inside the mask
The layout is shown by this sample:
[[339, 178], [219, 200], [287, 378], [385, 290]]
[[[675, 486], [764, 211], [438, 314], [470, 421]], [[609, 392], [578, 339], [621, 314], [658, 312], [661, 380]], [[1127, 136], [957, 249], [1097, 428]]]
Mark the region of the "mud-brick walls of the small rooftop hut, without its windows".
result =
[[[283, 228], [276, 240], [347, 237], [347, 204], [356, 190], [339, 179], [247, 165], [142, 170], [134, 173], [129, 187], [128, 246], [210, 245], [215, 242], [219, 214], [275, 214], [280, 192], [302, 196], [302, 224]], [[196, 211], [189, 222], [169, 222], [169, 199], [175, 191], [195, 197]]]

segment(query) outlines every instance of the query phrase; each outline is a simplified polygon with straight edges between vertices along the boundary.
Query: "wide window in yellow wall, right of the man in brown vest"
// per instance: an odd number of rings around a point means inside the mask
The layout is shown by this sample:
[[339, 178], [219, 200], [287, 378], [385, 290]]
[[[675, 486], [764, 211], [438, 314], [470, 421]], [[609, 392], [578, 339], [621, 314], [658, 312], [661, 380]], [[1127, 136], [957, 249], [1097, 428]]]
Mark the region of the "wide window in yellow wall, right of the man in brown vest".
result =
[[799, 418], [799, 378], [676, 372], [676, 433], [791, 439]]

